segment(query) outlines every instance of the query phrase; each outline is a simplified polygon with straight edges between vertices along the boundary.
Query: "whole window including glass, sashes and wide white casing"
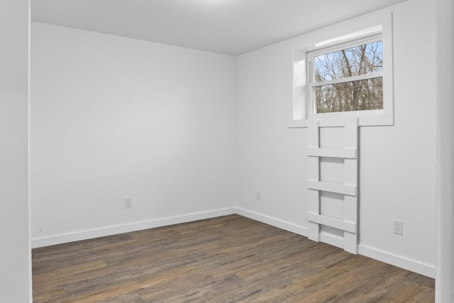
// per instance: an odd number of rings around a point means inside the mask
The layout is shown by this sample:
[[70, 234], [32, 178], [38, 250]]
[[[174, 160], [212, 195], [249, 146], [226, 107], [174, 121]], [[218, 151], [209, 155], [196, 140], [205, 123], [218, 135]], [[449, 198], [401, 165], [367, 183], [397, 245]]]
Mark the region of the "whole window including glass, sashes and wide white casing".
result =
[[[290, 127], [311, 118], [355, 116], [360, 126], [394, 124], [392, 15], [371, 14], [289, 42], [293, 58]], [[306, 45], [306, 46], [298, 46]]]

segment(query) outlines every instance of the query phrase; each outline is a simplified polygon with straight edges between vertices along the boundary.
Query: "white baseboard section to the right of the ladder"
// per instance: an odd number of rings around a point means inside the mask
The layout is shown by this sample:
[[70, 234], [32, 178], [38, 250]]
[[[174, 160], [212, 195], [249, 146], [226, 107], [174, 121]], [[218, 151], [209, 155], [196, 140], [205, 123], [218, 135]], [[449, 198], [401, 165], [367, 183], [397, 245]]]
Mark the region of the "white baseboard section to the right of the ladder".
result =
[[410, 270], [412, 272], [416, 272], [427, 277], [432, 278], [435, 277], [434, 265], [421, 263], [416, 260], [404, 258], [401, 255], [394, 255], [393, 253], [387, 253], [384, 252], [383, 250], [372, 248], [370, 246], [365, 246], [362, 244], [358, 246], [358, 252], [360, 253], [360, 255], [365, 255], [366, 257], [379, 260], [381, 262], [388, 263], [399, 268], [404, 268], [406, 270]]

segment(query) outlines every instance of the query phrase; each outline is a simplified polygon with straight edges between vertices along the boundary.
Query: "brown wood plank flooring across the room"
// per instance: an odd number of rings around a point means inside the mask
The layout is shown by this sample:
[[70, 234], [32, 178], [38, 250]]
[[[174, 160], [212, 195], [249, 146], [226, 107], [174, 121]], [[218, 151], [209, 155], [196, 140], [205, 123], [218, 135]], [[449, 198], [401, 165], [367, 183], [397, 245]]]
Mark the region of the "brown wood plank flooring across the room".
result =
[[33, 302], [434, 302], [434, 280], [242, 216], [33, 249]]

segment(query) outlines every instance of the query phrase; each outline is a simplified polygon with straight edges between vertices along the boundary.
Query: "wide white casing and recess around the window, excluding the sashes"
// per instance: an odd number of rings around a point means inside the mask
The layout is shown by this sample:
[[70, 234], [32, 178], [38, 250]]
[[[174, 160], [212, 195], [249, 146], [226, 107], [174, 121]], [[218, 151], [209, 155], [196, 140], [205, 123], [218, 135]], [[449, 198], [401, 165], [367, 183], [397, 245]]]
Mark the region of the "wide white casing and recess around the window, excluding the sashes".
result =
[[[309, 85], [306, 79], [309, 79], [307, 72], [302, 72], [307, 69], [306, 54], [315, 50], [315, 45], [320, 41], [331, 40], [338, 37], [343, 37], [345, 33], [356, 33], [358, 29], [374, 28], [382, 26], [382, 41], [383, 41], [383, 109], [370, 111], [345, 111], [342, 113], [321, 113], [311, 114], [308, 99]], [[289, 73], [293, 78], [290, 81], [292, 87], [289, 87], [290, 92], [293, 92], [290, 97], [289, 109], [292, 117], [289, 119], [289, 128], [307, 128], [308, 118], [335, 118], [339, 117], [358, 117], [359, 126], [392, 126], [394, 125], [394, 62], [393, 62], [393, 33], [392, 33], [392, 13], [369, 13], [357, 18], [343, 21], [341, 23], [320, 28], [319, 30], [300, 35], [289, 40], [289, 58], [292, 65], [289, 68]], [[301, 73], [304, 73], [302, 75]]]

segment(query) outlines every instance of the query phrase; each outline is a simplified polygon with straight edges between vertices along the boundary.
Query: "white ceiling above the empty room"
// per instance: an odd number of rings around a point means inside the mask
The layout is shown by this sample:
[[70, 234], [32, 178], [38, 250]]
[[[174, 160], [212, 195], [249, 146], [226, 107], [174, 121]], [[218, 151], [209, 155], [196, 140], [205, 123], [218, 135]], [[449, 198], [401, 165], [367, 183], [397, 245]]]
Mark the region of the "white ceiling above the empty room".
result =
[[239, 55], [406, 0], [31, 0], [32, 20]]

